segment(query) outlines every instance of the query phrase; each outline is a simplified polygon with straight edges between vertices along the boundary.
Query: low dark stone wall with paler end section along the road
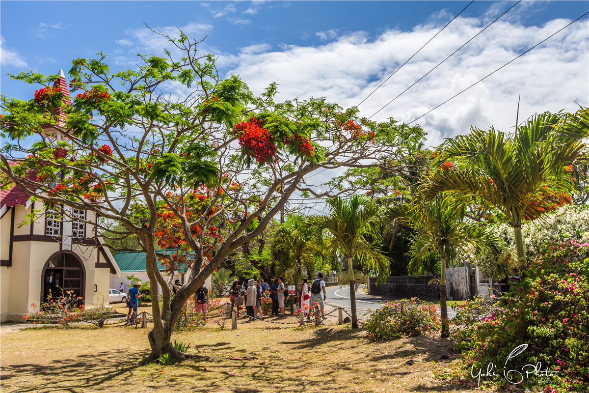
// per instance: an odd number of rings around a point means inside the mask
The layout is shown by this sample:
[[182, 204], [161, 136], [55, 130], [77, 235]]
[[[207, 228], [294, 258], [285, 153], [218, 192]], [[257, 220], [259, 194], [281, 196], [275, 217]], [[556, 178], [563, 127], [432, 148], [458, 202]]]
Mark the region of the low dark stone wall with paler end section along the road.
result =
[[[467, 274], [465, 267], [446, 269], [446, 280], [448, 280], [446, 297], [449, 300], [469, 298]], [[439, 280], [440, 275], [390, 276], [386, 279], [386, 283], [376, 285], [376, 277], [370, 277], [368, 294], [396, 299], [439, 299], [439, 286], [428, 285], [428, 282], [434, 278]]]

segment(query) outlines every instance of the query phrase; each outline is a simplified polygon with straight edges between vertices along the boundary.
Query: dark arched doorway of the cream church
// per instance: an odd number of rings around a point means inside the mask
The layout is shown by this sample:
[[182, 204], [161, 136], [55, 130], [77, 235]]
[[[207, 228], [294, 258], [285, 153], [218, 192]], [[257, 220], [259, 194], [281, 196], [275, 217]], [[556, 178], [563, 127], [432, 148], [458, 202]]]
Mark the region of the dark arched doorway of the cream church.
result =
[[[57, 298], [70, 290], [76, 297], [84, 298], [85, 274], [84, 263], [75, 253], [59, 251], [49, 257], [43, 267], [41, 281], [41, 302], [47, 302], [48, 296]], [[84, 304], [84, 300], [81, 300]]]

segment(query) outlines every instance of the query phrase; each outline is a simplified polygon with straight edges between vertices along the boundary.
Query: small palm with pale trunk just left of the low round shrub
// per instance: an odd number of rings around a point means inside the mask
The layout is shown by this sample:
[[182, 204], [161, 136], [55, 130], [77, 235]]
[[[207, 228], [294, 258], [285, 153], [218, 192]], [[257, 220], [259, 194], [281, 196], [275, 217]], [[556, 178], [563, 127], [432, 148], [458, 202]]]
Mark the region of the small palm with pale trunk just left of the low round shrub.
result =
[[336, 197], [327, 200], [327, 204], [329, 216], [307, 217], [304, 227], [315, 234], [329, 260], [336, 260], [338, 255], [348, 259], [352, 328], [358, 329], [352, 260], [378, 269], [379, 280], [389, 274], [389, 259], [370, 242], [380, 242], [380, 210], [359, 195], [346, 200]]

